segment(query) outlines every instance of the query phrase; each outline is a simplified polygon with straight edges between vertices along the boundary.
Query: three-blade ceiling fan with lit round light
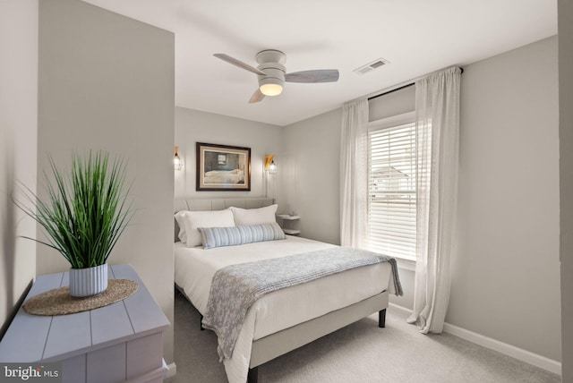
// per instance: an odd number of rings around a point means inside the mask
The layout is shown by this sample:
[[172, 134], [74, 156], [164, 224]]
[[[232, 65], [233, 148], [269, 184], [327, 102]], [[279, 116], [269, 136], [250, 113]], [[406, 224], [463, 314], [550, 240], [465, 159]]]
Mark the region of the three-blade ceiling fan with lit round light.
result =
[[259, 88], [249, 99], [251, 104], [260, 102], [265, 96], [278, 96], [283, 91], [285, 81], [305, 83], [338, 81], [338, 69], [286, 73], [286, 55], [276, 49], [266, 49], [259, 52], [255, 56], [257, 63], [259, 63], [256, 68], [224, 53], [216, 53], [214, 56], [257, 75]]

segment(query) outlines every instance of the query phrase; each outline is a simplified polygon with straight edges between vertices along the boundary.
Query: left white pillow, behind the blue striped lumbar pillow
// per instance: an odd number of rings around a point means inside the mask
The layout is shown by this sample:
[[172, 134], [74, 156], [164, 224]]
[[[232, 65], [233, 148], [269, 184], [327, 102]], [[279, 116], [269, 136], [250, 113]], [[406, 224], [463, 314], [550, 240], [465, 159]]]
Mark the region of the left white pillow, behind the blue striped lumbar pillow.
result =
[[183, 221], [187, 247], [201, 246], [201, 232], [198, 227], [235, 226], [233, 212], [229, 209], [215, 211], [184, 211]]

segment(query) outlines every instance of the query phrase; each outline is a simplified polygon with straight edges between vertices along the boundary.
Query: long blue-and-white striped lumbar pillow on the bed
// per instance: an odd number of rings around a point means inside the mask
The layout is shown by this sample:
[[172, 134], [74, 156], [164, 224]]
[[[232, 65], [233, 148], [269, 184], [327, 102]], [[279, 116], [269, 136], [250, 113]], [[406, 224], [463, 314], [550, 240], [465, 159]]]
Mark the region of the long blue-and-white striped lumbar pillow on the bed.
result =
[[285, 239], [285, 233], [276, 222], [249, 226], [200, 227], [199, 231], [205, 249]]

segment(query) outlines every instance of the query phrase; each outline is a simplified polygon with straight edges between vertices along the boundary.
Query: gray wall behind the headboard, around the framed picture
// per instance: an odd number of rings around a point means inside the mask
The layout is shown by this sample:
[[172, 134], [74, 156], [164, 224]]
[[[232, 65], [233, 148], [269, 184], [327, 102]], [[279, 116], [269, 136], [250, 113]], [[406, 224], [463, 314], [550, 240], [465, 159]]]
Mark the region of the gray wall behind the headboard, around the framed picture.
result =
[[[264, 157], [275, 155], [278, 174], [269, 177], [268, 194], [278, 200], [277, 183], [282, 173], [282, 128], [226, 115], [175, 107], [175, 145], [184, 168], [175, 172], [175, 198], [244, 198], [265, 195]], [[251, 191], [195, 191], [196, 142], [251, 148]]]

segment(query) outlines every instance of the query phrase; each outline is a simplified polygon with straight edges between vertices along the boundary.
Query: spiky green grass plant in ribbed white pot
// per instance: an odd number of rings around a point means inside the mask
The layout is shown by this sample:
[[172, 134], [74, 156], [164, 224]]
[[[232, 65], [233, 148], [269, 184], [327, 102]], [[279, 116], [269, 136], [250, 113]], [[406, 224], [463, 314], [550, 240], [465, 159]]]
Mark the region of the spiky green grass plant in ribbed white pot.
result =
[[48, 156], [53, 181], [45, 174], [47, 199], [27, 190], [35, 209], [19, 204], [47, 234], [47, 242], [29, 238], [59, 251], [70, 262], [70, 294], [87, 297], [107, 289], [107, 258], [133, 217], [124, 183], [125, 163], [109, 164], [107, 152], [72, 158], [64, 174]]

